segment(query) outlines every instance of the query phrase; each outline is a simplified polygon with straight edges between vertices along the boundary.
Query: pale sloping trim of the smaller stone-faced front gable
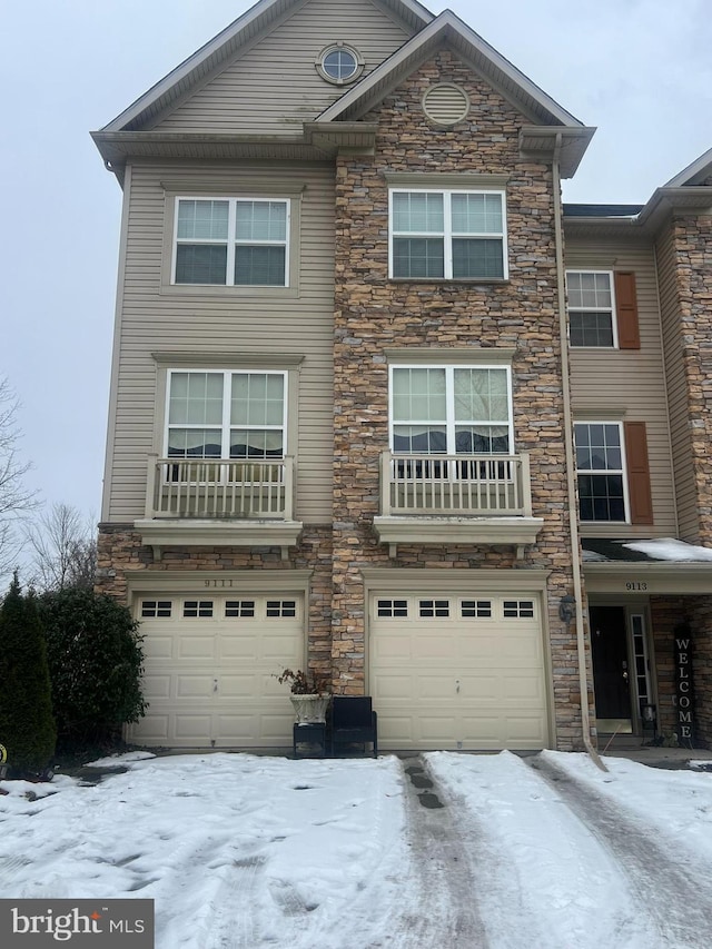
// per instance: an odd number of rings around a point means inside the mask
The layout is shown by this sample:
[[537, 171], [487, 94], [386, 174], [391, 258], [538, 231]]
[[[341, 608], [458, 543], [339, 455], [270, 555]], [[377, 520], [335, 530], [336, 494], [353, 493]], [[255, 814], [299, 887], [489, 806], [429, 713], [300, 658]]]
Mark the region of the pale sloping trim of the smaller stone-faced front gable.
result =
[[[536, 83], [532, 82], [523, 72], [513, 66], [507, 59], [498, 53], [494, 47], [484, 40], [478, 33], [472, 30], [464, 23], [459, 17], [456, 17], [451, 10], [445, 10], [428, 23], [419, 33], [416, 33], [412, 40], [408, 40], [400, 49], [388, 57], [387, 60], [376, 67], [368, 76], [362, 79], [348, 92], [342, 96], [334, 105], [325, 109], [318, 117], [318, 121], [328, 122], [338, 119], [350, 106], [356, 105], [360, 99], [367, 98], [368, 92], [378, 87], [379, 83], [387, 81], [387, 77], [393, 73], [396, 81], [399, 79], [399, 67], [403, 67], [409, 59], [417, 56], [418, 51], [426, 52], [429, 47], [434, 47], [438, 40], [446, 39], [448, 33], [454, 32], [469, 49], [471, 55], [484, 57], [492, 63], [493, 81], [502, 82], [508, 80], [517, 87], [524, 97], [534, 100], [545, 112], [548, 113], [551, 120], [561, 122], [563, 126], [584, 128], [581, 122], [571, 112], [567, 112], [562, 106], [555, 102], [547, 96]], [[501, 77], [497, 79], [497, 73]]]

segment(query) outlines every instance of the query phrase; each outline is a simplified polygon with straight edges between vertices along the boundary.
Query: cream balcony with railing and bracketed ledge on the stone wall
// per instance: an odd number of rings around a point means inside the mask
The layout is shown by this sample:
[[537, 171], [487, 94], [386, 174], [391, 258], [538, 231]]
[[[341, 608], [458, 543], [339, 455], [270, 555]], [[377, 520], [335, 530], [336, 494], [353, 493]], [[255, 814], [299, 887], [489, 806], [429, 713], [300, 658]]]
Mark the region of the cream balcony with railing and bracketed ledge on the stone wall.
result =
[[532, 516], [528, 455], [380, 456], [378, 540], [398, 544], [507, 544], [522, 556], [544, 521]]

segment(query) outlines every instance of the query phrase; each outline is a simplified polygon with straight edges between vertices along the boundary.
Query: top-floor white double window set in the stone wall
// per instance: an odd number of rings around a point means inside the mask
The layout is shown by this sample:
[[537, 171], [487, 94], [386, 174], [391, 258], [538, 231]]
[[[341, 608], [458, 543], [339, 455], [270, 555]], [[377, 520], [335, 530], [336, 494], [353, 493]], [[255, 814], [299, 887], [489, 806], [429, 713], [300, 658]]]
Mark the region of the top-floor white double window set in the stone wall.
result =
[[390, 190], [395, 279], [507, 277], [504, 191]]

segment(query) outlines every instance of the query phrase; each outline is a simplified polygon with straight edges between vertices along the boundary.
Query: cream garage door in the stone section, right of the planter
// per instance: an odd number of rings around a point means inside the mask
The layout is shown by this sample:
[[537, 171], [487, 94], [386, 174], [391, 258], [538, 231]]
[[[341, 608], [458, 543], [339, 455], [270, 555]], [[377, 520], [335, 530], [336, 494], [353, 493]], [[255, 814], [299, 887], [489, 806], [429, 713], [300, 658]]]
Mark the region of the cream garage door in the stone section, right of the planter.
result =
[[369, 664], [384, 749], [547, 744], [536, 597], [375, 595]]

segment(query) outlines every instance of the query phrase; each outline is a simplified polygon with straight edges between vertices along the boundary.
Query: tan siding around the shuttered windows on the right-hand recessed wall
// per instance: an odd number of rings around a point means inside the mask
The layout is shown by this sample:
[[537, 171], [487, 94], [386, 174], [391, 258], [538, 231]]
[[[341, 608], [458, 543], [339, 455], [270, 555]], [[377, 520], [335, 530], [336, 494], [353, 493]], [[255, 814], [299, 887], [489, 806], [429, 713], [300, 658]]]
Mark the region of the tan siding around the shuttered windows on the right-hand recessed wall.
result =
[[[657, 283], [653, 248], [647, 241], [612, 244], [566, 238], [567, 269], [635, 273], [640, 349], [571, 350], [574, 419], [644, 422], [647, 434], [653, 525], [615, 524], [624, 537], [675, 536], [668, 397], [663, 384]], [[583, 525], [589, 536], [611, 536], [611, 525]]]

